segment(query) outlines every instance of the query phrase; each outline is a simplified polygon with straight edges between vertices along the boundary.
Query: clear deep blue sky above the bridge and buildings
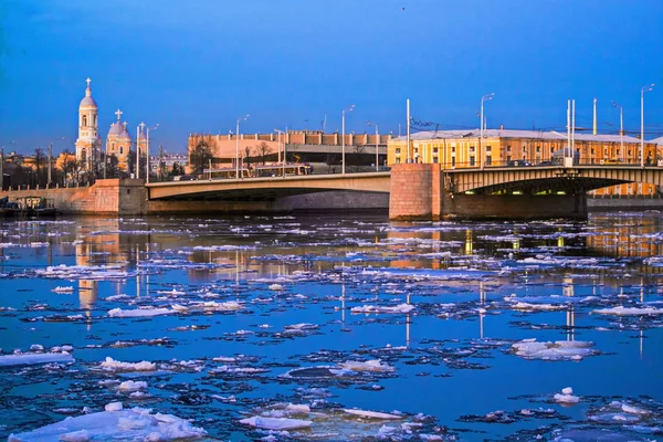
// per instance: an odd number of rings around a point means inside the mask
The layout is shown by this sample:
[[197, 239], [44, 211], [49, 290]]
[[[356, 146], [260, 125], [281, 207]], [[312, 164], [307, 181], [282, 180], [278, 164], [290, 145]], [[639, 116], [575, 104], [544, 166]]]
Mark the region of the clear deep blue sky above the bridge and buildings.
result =
[[[404, 10], [402, 9], [404, 8]], [[0, 0], [0, 144], [73, 148], [85, 78], [105, 138], [116, 108], [133, 131], [183, 151], [189, 133], [274, 128], [398, 133], [418, 120], [663, 135], [661, 0]], [[369, 128], [369, 130], [373, 130]], [[404, 129], [403, 129], [404, 131]], [[8, 149], [8, 148], [6, 148]]]

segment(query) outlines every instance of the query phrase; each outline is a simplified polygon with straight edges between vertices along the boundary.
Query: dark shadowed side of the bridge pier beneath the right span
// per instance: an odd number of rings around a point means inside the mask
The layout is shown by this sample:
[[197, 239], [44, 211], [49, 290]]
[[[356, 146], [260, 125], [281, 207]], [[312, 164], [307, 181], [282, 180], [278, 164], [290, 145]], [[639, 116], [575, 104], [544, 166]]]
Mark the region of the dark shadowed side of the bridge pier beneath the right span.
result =
[[445, 194], [444, 218], [587, 220], [587, 194]]

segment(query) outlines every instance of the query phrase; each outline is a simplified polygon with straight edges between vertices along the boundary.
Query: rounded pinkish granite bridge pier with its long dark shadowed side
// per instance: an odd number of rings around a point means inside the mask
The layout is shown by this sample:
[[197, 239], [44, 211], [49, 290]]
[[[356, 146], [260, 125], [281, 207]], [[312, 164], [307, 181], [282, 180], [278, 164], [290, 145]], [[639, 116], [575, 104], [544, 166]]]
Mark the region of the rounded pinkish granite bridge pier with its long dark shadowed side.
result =
[[453, 193], [439, 165], [400, 164], [391, 169], [390, 220], [587, 219], [587, 196]]

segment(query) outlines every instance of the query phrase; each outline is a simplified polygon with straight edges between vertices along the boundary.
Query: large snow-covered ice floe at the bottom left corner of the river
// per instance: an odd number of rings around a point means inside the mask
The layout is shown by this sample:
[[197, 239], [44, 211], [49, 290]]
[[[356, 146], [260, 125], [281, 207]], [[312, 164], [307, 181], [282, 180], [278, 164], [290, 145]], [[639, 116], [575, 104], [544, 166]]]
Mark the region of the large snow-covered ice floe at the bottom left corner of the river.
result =
[[[117, 402], [118, 403], [118, 402]], [[204, 436], [207, 432], [172, 414], [152, 414], [150, 409], [123, 410], [122, 403], [106, 411], [67, 418], [40, 429], [11, 434], [8, 442], [86, 442], [91, 440], [175, 441]]]

